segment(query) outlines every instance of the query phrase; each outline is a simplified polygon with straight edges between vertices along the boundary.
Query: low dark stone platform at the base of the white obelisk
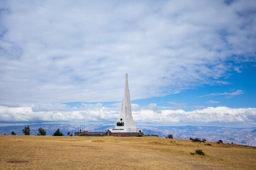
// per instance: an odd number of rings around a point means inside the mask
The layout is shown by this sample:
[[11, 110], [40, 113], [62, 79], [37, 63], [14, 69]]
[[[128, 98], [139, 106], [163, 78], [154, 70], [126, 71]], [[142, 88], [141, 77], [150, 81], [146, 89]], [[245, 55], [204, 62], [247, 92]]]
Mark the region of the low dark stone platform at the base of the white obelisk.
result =
[[75, 136], [143, 136], [142, 132], [75, 132]]

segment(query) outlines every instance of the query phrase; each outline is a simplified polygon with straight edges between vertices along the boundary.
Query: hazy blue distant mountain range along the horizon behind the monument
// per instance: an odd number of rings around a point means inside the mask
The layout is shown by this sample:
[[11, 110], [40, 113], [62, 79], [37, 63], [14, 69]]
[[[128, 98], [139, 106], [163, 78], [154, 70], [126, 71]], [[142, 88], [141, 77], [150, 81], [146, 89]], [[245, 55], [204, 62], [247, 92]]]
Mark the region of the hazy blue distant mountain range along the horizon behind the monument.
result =
[[[0, 134], [10, 135], [12, 131], [16, 135], [23, 135], [22, 129], [27, 126], [7, 126], [0, 127]], [[64, 135], [67, 132], [76, 132], [78, 130], [77, 126], [74, 124], [33, 124], [30, 126], [30, 134], [37, 135], [38, 128], [43, 127], [46, 130], [46, 135], [53, 135], [53, 133], [60, 128]], [[113, 128], [112, 125], [100, 126], [100, 125], [89, 125], [89, 132], [105, 132], [109, 128]], [[176, 139], [189, 139], [200, 138], [206, 139], [207, 141], [216, 142], [219, 139], [223, 140], [224, 143], [234, 144], [246, 144], [251, 146], [256, 146], [256, 128], [231, 128], [231, 127], [207, 127], [207, 126], [137, 126], [142, 128], [145, 135], [153, 134], [160, 137], [165, 137], [168, 134], [172, 134]], [[85, 129], [81, 129], [85, 130]]]

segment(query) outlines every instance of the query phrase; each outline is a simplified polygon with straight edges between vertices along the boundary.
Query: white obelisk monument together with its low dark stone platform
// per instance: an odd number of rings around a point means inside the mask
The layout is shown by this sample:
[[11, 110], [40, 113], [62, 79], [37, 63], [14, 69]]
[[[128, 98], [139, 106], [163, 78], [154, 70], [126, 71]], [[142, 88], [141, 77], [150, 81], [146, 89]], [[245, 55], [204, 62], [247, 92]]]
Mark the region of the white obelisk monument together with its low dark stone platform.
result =
[[75, 136], [143, 136], [142, 129], [136, 128], [131, 112], [131, 99], [128, 87], [128, 75], [125, 75], [124, 99], [122, 110], [115, 128], [107, 132], [75, 132]]

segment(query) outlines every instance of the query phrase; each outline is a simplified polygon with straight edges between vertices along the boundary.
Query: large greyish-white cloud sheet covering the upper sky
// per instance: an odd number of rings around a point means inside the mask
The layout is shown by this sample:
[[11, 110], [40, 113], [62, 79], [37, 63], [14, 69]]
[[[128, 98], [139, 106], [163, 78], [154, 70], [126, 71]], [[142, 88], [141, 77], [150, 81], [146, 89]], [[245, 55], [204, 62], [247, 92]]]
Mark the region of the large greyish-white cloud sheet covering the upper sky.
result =
[[164, 96], [255, 61], [255, 0], [0, 6], [1, 104], [120, 101], [125, 73], [132, 99]]

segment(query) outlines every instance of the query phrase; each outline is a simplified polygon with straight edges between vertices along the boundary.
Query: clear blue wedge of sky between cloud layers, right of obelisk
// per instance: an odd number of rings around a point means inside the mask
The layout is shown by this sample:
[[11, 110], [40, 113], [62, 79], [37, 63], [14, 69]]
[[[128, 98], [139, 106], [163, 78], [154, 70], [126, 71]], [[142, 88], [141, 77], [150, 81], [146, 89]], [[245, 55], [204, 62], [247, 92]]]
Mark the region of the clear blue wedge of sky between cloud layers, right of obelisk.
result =
[[[159, 106], [227, 106], [233, 108], [256, 107], [256, 67], [248, 64], [241, 73], [231, 72], [230, 76], [220, 80], [226, 85], [203, 85], [181, 93], [134, 100], [133, 103], [148, 105], [156, 103]], [[239, 92], [240, 93], [239, 93]], [[225, 95], [224, 93], [227, 92]], [[235, 93], [238, 92], [238, 93]], [[210, 95], [215, 93], [217, 95]], [[220, 93], [218, 95], [218, 93]], [[233, 94], [233, 95], [230, 95]]]

